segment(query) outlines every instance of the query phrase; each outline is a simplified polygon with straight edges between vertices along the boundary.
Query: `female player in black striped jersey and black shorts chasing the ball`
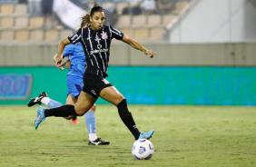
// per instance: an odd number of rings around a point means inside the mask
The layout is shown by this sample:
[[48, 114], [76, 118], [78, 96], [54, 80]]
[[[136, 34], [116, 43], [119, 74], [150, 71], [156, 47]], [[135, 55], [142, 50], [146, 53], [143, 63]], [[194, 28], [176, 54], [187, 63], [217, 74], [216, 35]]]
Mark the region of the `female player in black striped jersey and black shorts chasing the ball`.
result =
[[37, 116], [34, 121], [34, 128], [37, 129], [39, 124], [45, 120], [45, 117], [67, 117], [70, 115], [82, 116], [96, 102], [100, 96], [105, 101], [113, 103], [118, 108], [118, 113], [126, 125], [133, 133], [135, 140], [147, 138], [150, 139], [154, 133], [152, 130], [149, 133], [140, 133], [133, 121], [133, 115], [128, 111], [126, 99], [122, 93], [109, 83], [105, 77], [107, 75], [107, 67], [109, 62], [110, 45], [113, 38], [121, 40], [126, 44], [130, 44], [133, 48], [142, 51], [144, 54], [149, 54], [151, 58], [156, 54], [153, 51], [147, 50], [142, 44], [137, 43], [127, 35], [114, 29], [111, 25], [103, 25], [105, 15], [103, 8], [100, 5], [94, 5], [90, 13], [90, 26], [81, 28], [78, 32], [68, 36], [59, 44], [59, 54], [55, 64], [61, 68], [63, 63], [64, 47], [67, 44], [83, 44], [86, 57], [85, 73], [84, 73], [84, 88], [75, 105], [64, 105], [54, 109], [37, 109]]

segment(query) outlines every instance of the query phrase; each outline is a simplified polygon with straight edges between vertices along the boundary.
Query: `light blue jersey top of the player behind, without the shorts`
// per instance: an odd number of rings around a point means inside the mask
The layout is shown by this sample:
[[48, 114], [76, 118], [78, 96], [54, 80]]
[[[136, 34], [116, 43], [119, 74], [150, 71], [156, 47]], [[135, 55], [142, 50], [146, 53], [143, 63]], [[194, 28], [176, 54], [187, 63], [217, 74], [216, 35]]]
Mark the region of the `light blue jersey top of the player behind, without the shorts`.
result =
[[79, 75], [83, 78], [85, 55], [81, 43], [68, 44], [64, 47], [64, 57], [69, 56], [71, 65], [67, 75]]

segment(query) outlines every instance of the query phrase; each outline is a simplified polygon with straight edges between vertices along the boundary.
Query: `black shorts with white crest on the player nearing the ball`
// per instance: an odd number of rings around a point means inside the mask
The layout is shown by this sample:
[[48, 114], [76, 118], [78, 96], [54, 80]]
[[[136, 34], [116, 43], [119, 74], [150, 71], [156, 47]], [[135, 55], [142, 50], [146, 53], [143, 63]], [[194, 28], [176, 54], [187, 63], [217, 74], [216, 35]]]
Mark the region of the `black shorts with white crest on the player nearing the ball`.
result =
[[83, 81], [84, 93], [89, 93], [96, 99], [100, 96], [100, 93], [104, 88], [113, 86], [113, 84], [109, 83], [103, 76], [97, 76], [95, 74], [84, 73]]

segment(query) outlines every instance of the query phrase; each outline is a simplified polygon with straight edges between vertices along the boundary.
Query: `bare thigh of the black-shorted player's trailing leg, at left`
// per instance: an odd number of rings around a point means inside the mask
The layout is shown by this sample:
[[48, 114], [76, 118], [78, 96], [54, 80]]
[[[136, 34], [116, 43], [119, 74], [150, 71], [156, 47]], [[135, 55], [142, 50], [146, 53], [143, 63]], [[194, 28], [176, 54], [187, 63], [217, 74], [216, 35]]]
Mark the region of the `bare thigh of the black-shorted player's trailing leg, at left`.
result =
[[96, 98], [94, 98], [89, 93], [84, 93], [82, 91], [78, 97], [77, 102], [74, 105], [74, 110], [79, 116], [83, 116], [84, 113], [88, 112], [90, 108], [94, 105], [96, 102]]

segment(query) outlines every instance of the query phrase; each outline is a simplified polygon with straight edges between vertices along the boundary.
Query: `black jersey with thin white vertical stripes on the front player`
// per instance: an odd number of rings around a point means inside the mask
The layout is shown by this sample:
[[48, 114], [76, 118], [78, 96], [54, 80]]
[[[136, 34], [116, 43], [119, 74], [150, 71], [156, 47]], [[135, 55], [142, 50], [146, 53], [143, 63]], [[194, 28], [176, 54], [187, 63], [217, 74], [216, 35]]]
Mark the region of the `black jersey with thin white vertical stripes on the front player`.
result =
[[111, 25], [103, 25], [103, 29], [94, 31], [90, 27], [80, 28], [68, 36], [72, 44], [80, 42], [86, 55], [85, 73], [107, 76], [111, 40], [121, 40], [123, 33]]

